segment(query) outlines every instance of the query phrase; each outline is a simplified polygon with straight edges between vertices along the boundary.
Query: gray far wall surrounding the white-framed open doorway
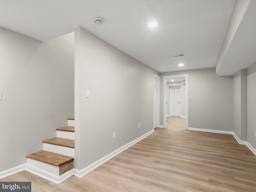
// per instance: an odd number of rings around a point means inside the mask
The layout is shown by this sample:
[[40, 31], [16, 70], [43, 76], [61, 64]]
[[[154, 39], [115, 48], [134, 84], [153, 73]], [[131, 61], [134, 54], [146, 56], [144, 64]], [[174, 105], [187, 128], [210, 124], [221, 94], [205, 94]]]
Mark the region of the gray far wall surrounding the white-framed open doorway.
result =
[[163, 125], [163, 76], [188, 74], [188, 127], [232, 131], [232, 77], [215, 68], [160, 74], [160, 125]]

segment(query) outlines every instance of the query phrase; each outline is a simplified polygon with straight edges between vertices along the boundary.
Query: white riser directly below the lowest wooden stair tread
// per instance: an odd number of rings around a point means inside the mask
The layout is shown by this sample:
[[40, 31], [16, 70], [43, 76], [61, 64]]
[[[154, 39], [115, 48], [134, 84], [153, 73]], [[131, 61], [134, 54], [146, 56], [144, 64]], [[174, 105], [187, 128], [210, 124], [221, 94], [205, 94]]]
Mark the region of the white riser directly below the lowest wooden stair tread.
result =
[[30, 159], [30, 158], [27, 158], [27, 163], [32, 165], [32, 166], [35, 166], [39, 169], [42, 169], [46, 172], [54, 174], [56, 176], [60, 175], [60, 168], [59, 167], [56, 167], [56, 166], [53, 166], [53, 165], [50, 165], [50, 164], [47, 164], [47, 163], [44, 163], [44, 162], [40, 162], [40, 161], [37, 161], [37, 160], [34, 160], [34, 159]]

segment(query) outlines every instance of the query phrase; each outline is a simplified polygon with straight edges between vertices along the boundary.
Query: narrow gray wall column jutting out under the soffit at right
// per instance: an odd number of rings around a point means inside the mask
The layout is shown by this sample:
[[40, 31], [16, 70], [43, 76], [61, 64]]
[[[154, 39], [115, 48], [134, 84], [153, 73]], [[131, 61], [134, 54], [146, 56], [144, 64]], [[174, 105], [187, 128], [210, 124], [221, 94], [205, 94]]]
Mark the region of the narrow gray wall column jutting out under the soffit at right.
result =
[[233, 131], [246, 141], [246, 69], [233, 76]]

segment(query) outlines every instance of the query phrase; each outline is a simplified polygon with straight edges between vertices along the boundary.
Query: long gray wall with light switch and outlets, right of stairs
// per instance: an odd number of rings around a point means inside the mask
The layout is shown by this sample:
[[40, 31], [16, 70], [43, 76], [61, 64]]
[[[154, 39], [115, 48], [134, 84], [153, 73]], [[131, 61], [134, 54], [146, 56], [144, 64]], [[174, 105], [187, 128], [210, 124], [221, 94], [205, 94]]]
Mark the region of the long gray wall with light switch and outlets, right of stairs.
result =
[[83, 28], [75, 29], [78, 170], [153, 129], [154, 74], [159, 75]]

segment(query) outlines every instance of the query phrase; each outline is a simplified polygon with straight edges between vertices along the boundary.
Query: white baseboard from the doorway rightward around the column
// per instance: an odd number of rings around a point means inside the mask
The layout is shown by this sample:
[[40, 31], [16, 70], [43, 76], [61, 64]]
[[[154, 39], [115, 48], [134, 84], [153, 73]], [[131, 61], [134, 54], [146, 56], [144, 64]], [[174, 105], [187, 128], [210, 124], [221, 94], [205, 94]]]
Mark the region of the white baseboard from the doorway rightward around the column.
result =
[[233, 131], [222, 131], [222, 130], [212, 130], [212, 129], [199, 129], [199, 128], [190, 128], [190, 127], [188, 128], [188, 130], [211, 132], [211, 133], [222, 133], [222, 134], [233, 135], [234, 138], [237, 140], [237, 142], [240, 145], [246, 145], [253, 152], [253, 154], [256, 155], [256, 149], [253, 146], [251, 146], [251, 144], [248, 143], [247, 141], [240, 140], [240, 138]]

